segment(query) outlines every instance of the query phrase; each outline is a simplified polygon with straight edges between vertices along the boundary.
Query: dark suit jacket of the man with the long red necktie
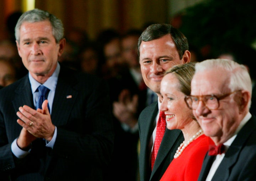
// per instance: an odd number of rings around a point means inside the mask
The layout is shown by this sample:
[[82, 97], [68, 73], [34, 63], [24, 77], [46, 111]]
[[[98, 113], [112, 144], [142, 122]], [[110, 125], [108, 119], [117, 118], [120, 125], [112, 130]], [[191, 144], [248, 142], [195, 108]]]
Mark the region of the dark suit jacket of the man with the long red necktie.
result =
[[158, 155], [151, 171], [151, 148], [150, 138], [154, 131], [154, 122], [158, 114], [158, 102], [147, 106], [139, 116], [139, 173], [140, 181], [158, 181], [174, 158], [174, 154], [184, 141], [181, 130], [169, 130], [166, 128]]

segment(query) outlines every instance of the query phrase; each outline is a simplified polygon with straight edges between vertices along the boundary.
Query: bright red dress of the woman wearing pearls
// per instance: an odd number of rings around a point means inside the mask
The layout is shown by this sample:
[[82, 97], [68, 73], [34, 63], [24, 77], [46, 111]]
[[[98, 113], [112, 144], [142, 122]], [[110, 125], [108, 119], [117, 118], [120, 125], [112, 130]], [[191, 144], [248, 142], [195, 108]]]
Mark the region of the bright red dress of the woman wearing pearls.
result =
[[197, 181], [210, 144], [214, 144], [212, 139], [199, 136], [171, 161], [160, 181]]

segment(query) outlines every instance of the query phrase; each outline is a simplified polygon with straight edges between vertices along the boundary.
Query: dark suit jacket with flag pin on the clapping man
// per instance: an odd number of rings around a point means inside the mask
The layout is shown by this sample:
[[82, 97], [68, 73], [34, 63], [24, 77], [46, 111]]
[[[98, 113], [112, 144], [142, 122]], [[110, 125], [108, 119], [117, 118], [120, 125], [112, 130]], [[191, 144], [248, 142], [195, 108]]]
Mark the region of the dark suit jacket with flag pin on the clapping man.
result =
[[57, 126], [53, 149], [36, 139], [31, 153], [17, 159], [11, 143], [20, 134], [19, 106], [34, 107], [28, 75], [0, 90], [0, 180], [103, 180], [113, 151], [108, 86], [102, 79], [60, 66], [51, 119]]

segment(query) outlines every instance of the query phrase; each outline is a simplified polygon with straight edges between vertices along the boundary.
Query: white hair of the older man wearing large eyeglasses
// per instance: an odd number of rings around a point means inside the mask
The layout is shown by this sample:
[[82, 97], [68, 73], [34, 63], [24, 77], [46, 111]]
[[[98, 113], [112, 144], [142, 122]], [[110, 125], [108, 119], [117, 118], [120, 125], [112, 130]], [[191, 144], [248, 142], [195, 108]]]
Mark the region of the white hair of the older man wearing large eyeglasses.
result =
[[[208, 59], [202, 62], [197, 62], [195, 65], [195, 73], [204, 70], [211, 70], [215, 68], [223, 68], [229, 72], [229, 85], [230, 91], [246, 90], [252, 95], [252, 82], [248, 69], [233, 60], [228, 59]], [[222, 75], [216, 75], [222, 76]], [[249, 102], [249, 108], [251, 100]]]

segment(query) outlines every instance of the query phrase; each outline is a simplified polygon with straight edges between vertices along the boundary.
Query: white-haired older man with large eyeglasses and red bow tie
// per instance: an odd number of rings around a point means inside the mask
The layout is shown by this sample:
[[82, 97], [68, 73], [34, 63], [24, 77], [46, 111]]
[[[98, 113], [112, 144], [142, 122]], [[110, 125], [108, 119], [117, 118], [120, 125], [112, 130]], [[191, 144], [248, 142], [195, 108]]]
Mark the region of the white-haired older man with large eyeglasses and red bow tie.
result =
[[215, 143], [198, 181], [256, 178], [256, 118], [249, 112], [252, 84], [244, 65], [227, 59], [199, 62], [185, 100], [204, 134]]

